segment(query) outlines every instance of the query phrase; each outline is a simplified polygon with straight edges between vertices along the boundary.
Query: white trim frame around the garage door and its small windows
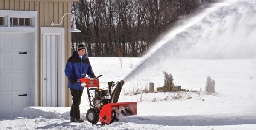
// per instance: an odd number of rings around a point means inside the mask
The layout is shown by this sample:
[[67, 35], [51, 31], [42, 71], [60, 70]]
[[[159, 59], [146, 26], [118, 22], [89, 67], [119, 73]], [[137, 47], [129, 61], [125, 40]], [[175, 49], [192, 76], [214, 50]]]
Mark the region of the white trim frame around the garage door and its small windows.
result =
[[[32, 59], [30, 61], [31, 66], [29, 66], [31, 69], [29, 70], [29, 79], [33, 79], [32, 82], [29, 82], [29, 90], [28, 90], [28, 98], [30, 106], [38, 106], [38, 83], [37, 83], [37, 77], [38, 77], [38, 64], [37, 64], [37, 45], [38, 45], [38, 28], [37, 28], [37, 11], [13, 11], [13, 10], [0, 10], [1, 17], [6, 17], [8, 21], [8, 26], [1, 26], [1, 34], [8, 34], [8, 33], [34, 33], [34, 42], [31, 43], [30, 48], [28, 48], [28, 53], [30, 53]], [[10, 25], [10, 17], [31, 17], [32, 18], [32, 27], [9, 27]]]

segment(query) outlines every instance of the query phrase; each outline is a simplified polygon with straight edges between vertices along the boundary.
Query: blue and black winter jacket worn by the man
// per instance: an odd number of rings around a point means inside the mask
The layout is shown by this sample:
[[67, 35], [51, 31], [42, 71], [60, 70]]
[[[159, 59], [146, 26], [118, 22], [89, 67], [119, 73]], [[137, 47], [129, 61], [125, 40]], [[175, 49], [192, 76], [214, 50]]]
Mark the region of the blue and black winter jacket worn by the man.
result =
[[65, 68], [65, 75], [68, 79], [68, 88], [83, 90], [84, 87], [81, 87], [80, 82], [71, 83], [70, 81], [77, 81], [78, 79], [84, 78], [86, 74], [89, 75], [90, 78], [94, 76], [88, 57], [83, 55], [81, 59], [77, 51], [74, 51], [73, 55], [68, 59]]

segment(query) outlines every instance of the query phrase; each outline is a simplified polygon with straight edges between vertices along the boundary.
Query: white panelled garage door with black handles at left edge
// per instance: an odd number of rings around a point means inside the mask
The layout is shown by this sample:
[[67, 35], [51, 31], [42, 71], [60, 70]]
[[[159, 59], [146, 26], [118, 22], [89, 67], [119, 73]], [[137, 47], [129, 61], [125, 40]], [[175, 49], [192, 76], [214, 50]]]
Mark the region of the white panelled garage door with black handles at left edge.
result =
[[29, 40], [27, 33], [1, 34], [1, 115], [28, 106]]

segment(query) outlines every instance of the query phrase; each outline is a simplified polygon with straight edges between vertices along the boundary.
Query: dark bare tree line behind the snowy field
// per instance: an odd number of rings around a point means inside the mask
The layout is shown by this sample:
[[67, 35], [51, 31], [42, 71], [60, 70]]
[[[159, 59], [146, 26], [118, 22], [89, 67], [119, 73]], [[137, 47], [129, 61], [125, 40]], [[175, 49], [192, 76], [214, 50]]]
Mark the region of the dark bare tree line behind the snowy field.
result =
[[72, 51], [83, 43], [93, 57], [140, 57], [178, 17], [213, 0], [80, 0], [72, 3]]

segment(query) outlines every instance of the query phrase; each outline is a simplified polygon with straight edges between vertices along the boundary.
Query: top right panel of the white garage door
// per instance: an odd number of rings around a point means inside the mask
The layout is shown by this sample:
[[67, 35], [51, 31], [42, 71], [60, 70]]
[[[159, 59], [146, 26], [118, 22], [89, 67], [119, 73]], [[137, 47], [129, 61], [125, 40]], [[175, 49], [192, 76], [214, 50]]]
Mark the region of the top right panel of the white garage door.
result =
[[13, 34], [13, 48], [27, 48], [27, 34]]

